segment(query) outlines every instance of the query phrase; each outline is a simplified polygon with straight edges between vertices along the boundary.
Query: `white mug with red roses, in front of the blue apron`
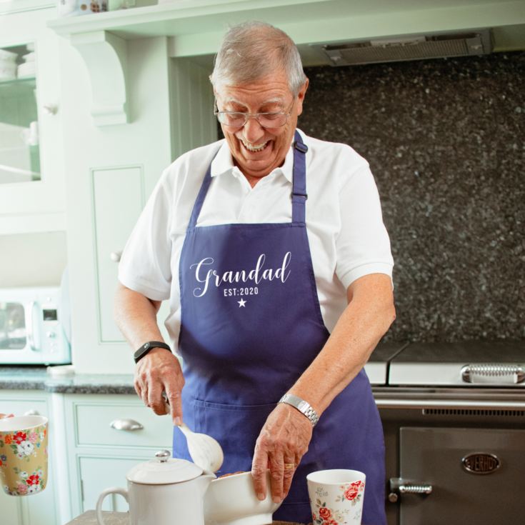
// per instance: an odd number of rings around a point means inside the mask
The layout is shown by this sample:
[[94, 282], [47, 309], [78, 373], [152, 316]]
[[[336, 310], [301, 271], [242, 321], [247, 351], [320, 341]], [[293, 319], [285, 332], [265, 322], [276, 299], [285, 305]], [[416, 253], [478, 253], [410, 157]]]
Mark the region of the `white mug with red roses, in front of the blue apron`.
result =
[[319, 470], [306, 476], [312, 525], [360, 525], [366, 476], [359, 470]]

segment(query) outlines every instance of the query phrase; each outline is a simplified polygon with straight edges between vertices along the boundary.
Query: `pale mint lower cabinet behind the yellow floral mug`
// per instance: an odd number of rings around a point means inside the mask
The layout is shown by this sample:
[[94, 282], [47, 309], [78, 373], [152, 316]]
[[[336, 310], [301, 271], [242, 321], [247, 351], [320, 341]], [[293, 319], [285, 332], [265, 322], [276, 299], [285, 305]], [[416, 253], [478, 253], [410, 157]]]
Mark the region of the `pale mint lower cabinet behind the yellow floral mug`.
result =
[[0, 494], [0, 521], [6, 525], [56, 525], [59, 523], [59, 501], [68, 499], [67, 493], [60, 490], [55, 435], [57, 426], [51, 414], [50, 394], [40, 391], [1, 390], [0, 412], [11, 412], [16, 416], [41, 415], [49, 418], [49, 471], [48, 483], [44, 491], [31, 496], [8, 496]]

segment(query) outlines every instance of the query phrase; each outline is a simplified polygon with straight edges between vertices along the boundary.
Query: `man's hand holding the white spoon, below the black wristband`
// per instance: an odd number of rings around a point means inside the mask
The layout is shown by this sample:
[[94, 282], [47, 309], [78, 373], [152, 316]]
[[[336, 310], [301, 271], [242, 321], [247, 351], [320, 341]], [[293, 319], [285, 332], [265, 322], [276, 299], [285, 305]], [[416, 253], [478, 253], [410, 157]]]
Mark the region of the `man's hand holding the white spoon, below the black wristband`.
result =
[[[155, 414], [170, 413], [174, 425], [181, 424], [184, 376], [179, 359], [174, 354], [161, 348], [149, 351], [135, 366], [134, 385], [136, 393]], [[164, 391], [169, 401], [169, 409], [162, 397]]]

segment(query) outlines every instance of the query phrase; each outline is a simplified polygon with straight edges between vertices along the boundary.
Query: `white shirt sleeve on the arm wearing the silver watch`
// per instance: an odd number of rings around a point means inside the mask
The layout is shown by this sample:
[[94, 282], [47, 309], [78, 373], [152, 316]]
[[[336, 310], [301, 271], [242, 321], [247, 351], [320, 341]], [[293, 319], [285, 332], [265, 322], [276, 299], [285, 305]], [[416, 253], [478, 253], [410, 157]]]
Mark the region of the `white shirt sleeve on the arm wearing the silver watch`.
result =
[[386, 274], [394, 260], [383, 224], [379, 193], [368, 164], [349, 176], [339, 191], [341, 231], [336, 239], [336, 274], [345, 289], [359, 277]]

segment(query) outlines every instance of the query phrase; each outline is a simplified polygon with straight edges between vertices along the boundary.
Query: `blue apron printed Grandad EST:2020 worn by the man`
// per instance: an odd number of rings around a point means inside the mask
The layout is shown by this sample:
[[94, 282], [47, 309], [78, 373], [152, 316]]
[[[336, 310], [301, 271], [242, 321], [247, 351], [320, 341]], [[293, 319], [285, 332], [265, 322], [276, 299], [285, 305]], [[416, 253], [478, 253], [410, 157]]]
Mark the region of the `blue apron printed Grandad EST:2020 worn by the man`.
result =
[[[186, 231], [179, 266], [183, 417], [221, 444], [219, 476], [251, 470], [266, 418], [329, 337], [306, 234], [307, 149], [296, 131], [291, 222], [196, 226], [210, 166]], [[177, 428], [174, 456], [190, 459]], [[311, 521], [306, 475], [323, 469], [364, 471], [362, 522], [386, 524], [383, 430], [364, 370], [322, 414], [274, 519]]]

